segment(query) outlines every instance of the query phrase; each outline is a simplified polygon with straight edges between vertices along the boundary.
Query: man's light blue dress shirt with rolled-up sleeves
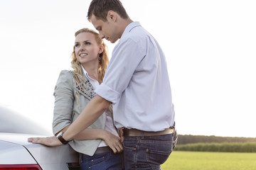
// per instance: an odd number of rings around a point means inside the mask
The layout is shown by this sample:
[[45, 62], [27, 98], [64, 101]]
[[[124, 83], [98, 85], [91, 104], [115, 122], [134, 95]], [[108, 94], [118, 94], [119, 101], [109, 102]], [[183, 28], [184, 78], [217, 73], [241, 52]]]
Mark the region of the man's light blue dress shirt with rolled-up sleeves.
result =
[[95, 92], [113, 103], [117, 128], [160, 131], [174, 125], [164, 52], [139, 22], [125, 28]]

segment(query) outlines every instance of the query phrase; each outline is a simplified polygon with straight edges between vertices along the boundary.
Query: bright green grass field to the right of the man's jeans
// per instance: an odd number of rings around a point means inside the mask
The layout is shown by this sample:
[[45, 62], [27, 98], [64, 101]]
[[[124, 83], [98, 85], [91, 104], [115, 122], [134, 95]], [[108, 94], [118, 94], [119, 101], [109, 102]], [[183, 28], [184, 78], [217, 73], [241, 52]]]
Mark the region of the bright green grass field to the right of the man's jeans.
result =
[[162, 170], [256, 170], [256, 153], [174, 151]]

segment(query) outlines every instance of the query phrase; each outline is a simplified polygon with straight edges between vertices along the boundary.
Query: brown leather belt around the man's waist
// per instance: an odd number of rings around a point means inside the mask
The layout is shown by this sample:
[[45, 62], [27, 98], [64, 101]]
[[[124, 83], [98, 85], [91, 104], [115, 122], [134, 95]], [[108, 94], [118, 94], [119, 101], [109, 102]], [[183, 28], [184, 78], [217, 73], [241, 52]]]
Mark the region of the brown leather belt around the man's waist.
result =
[[123, 135], [124, 136], [132, 136], [132, 137], [139, 137], [139, 136], [159, 136], [159, 135], [169, 135], [174, 133], [174, 128], [167, 128], [162, 131], [158, 132], [147, 132], [147, 131], [142, 131], [142, 130], [137, 130], [137, 129], [123, 129]]

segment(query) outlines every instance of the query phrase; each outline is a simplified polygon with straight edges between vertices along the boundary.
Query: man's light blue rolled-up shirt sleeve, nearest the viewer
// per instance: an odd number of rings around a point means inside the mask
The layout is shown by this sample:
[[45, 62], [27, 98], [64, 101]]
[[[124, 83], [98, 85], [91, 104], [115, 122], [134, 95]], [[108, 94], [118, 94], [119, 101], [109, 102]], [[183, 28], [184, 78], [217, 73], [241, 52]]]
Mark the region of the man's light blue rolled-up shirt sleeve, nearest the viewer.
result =
[[97, 95], [107, 101], [117, 103], [141, 60], [145, 56], [144, 48], [132, 38], [119, 40], [112, 52], [102, 84], [97, 87]]

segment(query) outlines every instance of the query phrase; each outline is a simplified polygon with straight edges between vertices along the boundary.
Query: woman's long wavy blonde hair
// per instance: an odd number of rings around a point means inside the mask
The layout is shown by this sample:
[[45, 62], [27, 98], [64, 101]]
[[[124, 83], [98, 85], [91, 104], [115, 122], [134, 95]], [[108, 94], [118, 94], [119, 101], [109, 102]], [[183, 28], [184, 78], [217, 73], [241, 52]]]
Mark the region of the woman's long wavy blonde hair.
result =
[[[78, 30], [75, 33], [75, 37], [80, 34], [80, 33], [92, 33], [93, 35], [95, 35], [95, 40], [97, 42], [98, 45], [103, 45], [103, 52], [100, 54], [99, 57], [99, 67], [98, 67], [98, 81], [101, 84], [103, 77], [105, 76], [105, 72], [107, 69], [107, 64], [109, 63], [109, 57], [108, 57], [108, 49], [107, 49], [107, 45], [105, 45], [104, 41], [102, 40], [102, 38], [100, 38], [100, 34], [96, 33], [94, 30], [90, 30], [89, 28], [82, 28], [80, 30]], [[72, 61], [71, 61], [71, 67], [73, 68], [73, 75], [74, 75], [74, 79], [75, 79], [75, 83], [79, 86], [80, 89], [85, 90], [84, 89], [84, 85], [85, 85], [85, 80], [82, 78], [82, 68], [81, 68], [81, 64], [80, 62], [78, 62], [77, 57], [75, 56], [75, 45], [73, 47], [73, 52], [71, 54], [72, 57]], [[75, 93], [79, 100], [79, 94], [78, 91], [76, 91]]]

